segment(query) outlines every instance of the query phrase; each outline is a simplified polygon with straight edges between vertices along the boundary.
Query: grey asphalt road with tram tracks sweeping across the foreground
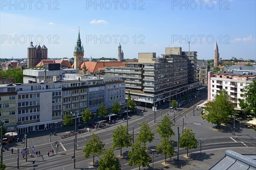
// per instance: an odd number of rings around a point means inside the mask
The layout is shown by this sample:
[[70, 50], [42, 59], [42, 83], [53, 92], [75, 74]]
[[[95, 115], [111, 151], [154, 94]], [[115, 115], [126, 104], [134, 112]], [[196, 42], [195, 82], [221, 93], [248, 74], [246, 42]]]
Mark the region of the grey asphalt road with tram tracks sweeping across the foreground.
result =
[[[202, 102], [202, 100], [195, 100], [195, 102]], [[195, 103], [196, 105], [196, 103]], [[161, 107], [160, 107], [161, 108]], [[135, 116], [130, 116], [131, 120], [128, 121], [128, 130], [130, 134], [133, 134], [134, 129], [134, 142], [136, 141], [137, 135], [139, 134], [140, 130], [140, 124], [142, 122], [147, 122], [150, 127], [151, 131], [155, 134], [154, 141], [151, 143], [147, 143], [146, 146], [148, 147], [148, 154], [152, 156], [151, 149], [155, 148], [160, 143], [160, 136], [156, 133], [157, 125], [161, 121], [164, 115], [166, 115], [167, 112], [169, 112], [169, 109], [163, 109], [164, 106], [157, 111], [157, 122], [154, 122], [154, 113], [152, 110], [147, 109], [146, 112], [144, 112], [143, 116], [137, 116], [137, 119], [133, 119]], [[178, 108], [175, 115], [175, 127], [173, 127], [173, 130], [175, 133], [177, 133], [177, 126], [180, 127], [180, 133], [182, 131], [182, 119], [184, 119], [184, 126], [191, 127], [192, 130], [196, 134], [196, 138], [200, 139], [202, 138], [202, 144], [201, 149], [209, 150], [212, 148], [227, 148], [227, 147], [254, 147], [255, 144], [255, 138], [256, 135], [253, 135], [252, 130], [248, 131], [245, 129], [245, 132], [241, 132], [242, 134], [239, 136], [239, 140], [235, 140], [235, 137], [230, 134], [230, 132], [219, 132], [212, 130], [212, 127], [214, 125], [209, 124], [208, 122], [202, 122], [201, 120], [201, 113], [200, 111], [195, 111], [195, 116], [192, 116], [192, 104], [189, 104], [189, 107], [186, 108]], [[162, 113], [162, 116], [161, 116]], [[180, 115], [179, 115], [180, 113]], [[186, 118], [185, 118], [186, 115]], [[171, 113], [169, 113], [169, 117], [171, 120], [174, 118], [174, 112], [172, 110]], [[122, 122], [122, 123], [121, 123]], [[199, 125], [199, 124], [201, 125]], [[93, 132], [96, 135], [100, 136], [100, 139], [105, 143], [105, 149], [108, 149], [112, 146], [112, 131], [116, 129], [116, 126], [122, 124], [123, 126], [126, 126], [126, 122], [123, 122], [122, 120], [119, 120], [119, 124], [112, 125], [110, 127], [100, 129], [100, 130], [94, 130]], [[246, 131], [247, 130], [247, 131]], [[93, 156], [90, 156], [88, 159], [84, 159], [84, 153], [82, 152], [82, 149], [84, 148], [85, 142], [87, 142], [90, 139], [90, 133], [85, 133], [83, 135], [77, 136], [77, 150], [76, 150], [76, 168], [77, 169], [85, 169], [91, 165], [93, 162]], [[19, 153], [19, 169], [20, 170], [72, 170], [74, 169], [74, 162], [71, 158], [74, 155], [74, 138], [61, 140], [60, 136], [52, 136], [52, 142], [49, 142], [49, 136], [43, 136], [39, 138], [33, 138], [28, 139], [28, 147], [29, 151], [32, 151], [32, 146], [35, 147], [35, 152], [37, 150], [40, 150], [41, 156], [38, 158], [29, 158], [28, 155], [28, 161], [26, 162], [26, 159], [22, 159], [22, 156]], [[177, 141], [177, 135], [173, 136], [173, 140]], [[58, 147], [58, 155], [56, 154], [56, 148], [54, 141], [58, 141], [59, 147]], [[198, 140], [199, 141], [199, 140]], [[175, 145], [177, 146], [176, 142]], [[22, 148], [24, 145], [20, 144], [18, 147]], [[177, 147], [175, 147], [177, 150]], [[55, 150], [55, 153], [53, 156], [47, 156], [47, 152], [49, 150]], [[128, 151], [131, 151], [131, 147], [129, 148], [122, 148], [122, 155], [123, 158], [119, 159], [122, 170], [131, 170], [131, 169], [138, 169], [137, 166], [130, 167], [128, 165]], [[185, 149], [179, 149], [179, 155], [186, 154]], [[189, 153], [195, 153], [200, 152], [200, 145], [197, 149], [189, 150]], [[116, 156], [120, 155], [120, 150], [115, 149], [114, 153]], [[17, 170], [17, 150], [14, 151], [12, 154], [11, 151], [5, 151], [3, 154], [3, 161], [4, 164], [7, 166], [7, 170]], [[35, 156], [35, 153], [33, 154]], [[99, 159], [100, 156], [95, 156], [95, 161]], [[177, 159], [177, 154], [174, 155], [173, 158]], [[32, 167], [32, 161], [35, 159], [35, 167]], [[161, 164], [161, 162], [164, 162], [165, 156], [161, 154], [154, 154], [154, 162], [155, 166], [157, 164]], [[168, 159], [168, 156], [167, 156]], [[152, 166], [152, 163], [151, 163]], [[92, 168], [93, 169], [93, 168]]]

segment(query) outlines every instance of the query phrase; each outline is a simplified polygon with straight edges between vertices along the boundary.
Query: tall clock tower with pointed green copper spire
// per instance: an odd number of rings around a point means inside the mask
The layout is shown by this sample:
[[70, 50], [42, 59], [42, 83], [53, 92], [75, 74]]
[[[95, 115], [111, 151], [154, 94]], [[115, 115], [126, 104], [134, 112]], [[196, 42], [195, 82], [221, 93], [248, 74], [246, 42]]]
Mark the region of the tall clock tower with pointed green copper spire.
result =
[[80, 29], [74, 50], [74, 68], [80, 70], [80, 66], [84, 61], [84, 46], [81, 46]]

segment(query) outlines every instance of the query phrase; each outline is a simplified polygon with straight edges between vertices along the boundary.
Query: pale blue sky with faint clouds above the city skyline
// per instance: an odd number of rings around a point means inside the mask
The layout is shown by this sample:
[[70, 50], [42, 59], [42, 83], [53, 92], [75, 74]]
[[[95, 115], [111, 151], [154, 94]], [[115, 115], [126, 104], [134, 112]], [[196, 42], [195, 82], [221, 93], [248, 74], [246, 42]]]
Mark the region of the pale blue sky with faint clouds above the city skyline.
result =
[[[11, 4], [12, 3], [12, 4]], [[30, 40], [45, 45], [48, 57], [73, 57], [78, 30], [84, 57], [125, 58], [140, 52], [164, 54], [165, 47], [220, 57], [256, 59], [255, 0], [0, 2], [0, 58], [26, 58]], [[128, 6], [127, 6], [128, 5]]]

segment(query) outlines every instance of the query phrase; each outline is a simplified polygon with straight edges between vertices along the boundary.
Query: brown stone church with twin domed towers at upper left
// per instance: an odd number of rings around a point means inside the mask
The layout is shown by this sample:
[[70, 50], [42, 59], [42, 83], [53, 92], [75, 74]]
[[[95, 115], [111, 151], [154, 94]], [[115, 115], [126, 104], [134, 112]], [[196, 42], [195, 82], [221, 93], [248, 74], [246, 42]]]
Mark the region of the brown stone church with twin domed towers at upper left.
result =
[[28, 58], [27, 64], [29, 67], [35, 67], [42, 59], [48, 59], [48, 49], [45, 45], [42, 47], [40, 45], [33, 46], [33, 42], [30, 42], [30, 46], [28, 47]]

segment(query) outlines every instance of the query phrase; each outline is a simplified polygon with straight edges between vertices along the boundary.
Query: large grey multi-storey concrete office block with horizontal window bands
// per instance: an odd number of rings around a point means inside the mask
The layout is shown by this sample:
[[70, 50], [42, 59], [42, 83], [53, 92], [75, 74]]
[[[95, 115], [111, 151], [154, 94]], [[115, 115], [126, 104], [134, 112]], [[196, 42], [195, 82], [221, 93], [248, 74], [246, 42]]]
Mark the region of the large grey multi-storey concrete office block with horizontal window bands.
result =
[[[191, 67], [193, 74], [188, 74], [188, 63], [196, 62], [189, 62], [188, 55], [181, 48], [166, 48], [166, 53], [162, 54], [163, 57], [156, 57], [156, 53], [139, 53], [138, 62], [125, 62], [125, 66], [120, 67], [106, 67], [105, 73], [121, 76], [125, 80], [126, 96], [130, 91], [131, 98], [137, 105], [159, 105], [170, 96], [172, 99], [176, 98], [199, 86], [194, 74], [195, 66]], [[196, 52], [189, 53], [192, 53], [193, 60], [196, 59]], [[189, 78], [191, 75], [195, 78]]]

